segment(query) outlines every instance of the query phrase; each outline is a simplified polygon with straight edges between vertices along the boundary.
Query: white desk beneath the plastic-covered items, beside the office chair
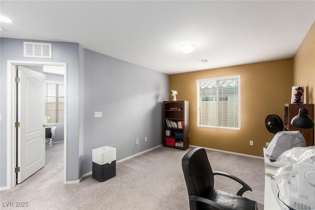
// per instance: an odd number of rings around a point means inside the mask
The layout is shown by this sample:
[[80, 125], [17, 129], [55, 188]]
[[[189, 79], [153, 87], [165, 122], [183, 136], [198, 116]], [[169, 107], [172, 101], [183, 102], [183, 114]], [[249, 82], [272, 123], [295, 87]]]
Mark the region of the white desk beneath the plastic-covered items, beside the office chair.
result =
[[[266, 149], [264, 151], [264, 159], [265, 159], [265, 173], [275, 175], [277, 169], [281, 167], [280, 165], [275, 164], [274, 162], [270, 162], [268, 157], [265, 155]], [[270, 185], [270, 177], [265, 175], [265, 198], [264, 198], [264, 210], [281, 210], [279, 204], [272, 192], [271, 185]]]

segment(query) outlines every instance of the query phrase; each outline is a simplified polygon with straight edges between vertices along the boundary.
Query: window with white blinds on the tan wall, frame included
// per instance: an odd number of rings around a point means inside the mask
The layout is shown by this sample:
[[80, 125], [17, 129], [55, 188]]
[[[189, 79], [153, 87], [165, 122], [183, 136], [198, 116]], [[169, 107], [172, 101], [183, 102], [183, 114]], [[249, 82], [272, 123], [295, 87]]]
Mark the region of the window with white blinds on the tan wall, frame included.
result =
[[240, 129], [240, 75], [196, 83], [197, 126]]

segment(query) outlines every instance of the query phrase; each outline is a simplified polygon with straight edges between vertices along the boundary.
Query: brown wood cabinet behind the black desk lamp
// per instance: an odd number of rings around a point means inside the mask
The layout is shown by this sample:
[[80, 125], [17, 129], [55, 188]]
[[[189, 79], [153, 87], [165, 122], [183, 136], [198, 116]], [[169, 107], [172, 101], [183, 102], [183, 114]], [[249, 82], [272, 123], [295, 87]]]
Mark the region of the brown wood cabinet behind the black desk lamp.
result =
[[[314, 104], [301, 104], [309, 111], [309, 116], [314, 120]], [[306, 146], [314, 145], [314, 128], [300, 129], [291, 125], [291, 120], [299, 114], [302, 108], [297, 104], [284, 104], [284, 127], [286, 130], [299, 130], [305, 138]]]

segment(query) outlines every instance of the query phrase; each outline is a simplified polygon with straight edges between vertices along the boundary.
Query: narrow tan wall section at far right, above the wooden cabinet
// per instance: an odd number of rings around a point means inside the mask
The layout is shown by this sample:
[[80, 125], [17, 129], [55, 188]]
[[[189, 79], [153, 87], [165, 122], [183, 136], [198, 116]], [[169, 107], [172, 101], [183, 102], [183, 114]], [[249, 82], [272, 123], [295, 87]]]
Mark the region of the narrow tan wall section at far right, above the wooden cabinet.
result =
[[306, 86], [306, 100], [315, 103], [315, 22], [293, 57], [293, 86]]

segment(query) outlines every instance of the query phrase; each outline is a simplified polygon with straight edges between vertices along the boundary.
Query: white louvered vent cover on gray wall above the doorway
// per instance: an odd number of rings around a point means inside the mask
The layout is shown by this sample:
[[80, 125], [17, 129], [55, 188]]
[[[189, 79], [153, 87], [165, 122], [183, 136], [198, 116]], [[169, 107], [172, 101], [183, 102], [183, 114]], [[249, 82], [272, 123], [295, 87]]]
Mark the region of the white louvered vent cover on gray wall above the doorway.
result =
[[24, 42], [24, 57], [51, 59], [51, 43]]

